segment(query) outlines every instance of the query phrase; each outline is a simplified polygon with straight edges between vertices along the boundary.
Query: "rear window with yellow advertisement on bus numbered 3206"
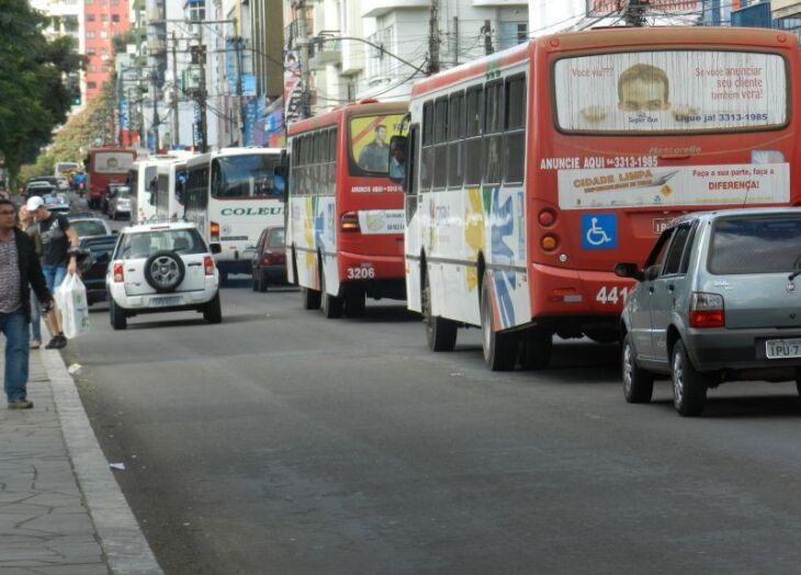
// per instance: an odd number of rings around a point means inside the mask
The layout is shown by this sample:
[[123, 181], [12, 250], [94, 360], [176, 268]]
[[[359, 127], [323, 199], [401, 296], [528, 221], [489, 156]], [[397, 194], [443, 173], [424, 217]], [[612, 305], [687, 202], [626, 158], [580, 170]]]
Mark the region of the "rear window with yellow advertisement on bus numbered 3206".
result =
[[386, 176], [390, 138], [400, 134], [403, 117], [403, 114], [391, 114], [351, 119], [351, 176]]

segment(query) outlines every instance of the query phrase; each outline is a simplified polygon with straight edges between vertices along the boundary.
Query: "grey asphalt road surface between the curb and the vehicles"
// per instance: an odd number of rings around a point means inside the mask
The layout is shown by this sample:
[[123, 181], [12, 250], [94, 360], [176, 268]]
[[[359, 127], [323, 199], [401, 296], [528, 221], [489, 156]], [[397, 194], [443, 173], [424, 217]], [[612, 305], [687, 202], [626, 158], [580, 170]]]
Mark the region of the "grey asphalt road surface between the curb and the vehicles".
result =
[[801, 401], [729, 384], [682, 419], [627, 405], [617, 346], [492, 373], [402, 305], [326, 320], [223, 291], [224, 323], [104, 305], [81, 397], [167, 573], [798, 573]]

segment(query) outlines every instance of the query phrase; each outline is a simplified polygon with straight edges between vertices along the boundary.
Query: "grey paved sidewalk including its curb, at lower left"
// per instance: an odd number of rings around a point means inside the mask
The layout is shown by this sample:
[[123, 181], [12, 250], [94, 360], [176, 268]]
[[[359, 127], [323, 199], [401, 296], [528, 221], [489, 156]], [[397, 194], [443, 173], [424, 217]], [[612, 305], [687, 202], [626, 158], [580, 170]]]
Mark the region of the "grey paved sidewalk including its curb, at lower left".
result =
[[0, 575], [161, 573], [58, 352], [31, 352], [27, 394], [0, 402]]

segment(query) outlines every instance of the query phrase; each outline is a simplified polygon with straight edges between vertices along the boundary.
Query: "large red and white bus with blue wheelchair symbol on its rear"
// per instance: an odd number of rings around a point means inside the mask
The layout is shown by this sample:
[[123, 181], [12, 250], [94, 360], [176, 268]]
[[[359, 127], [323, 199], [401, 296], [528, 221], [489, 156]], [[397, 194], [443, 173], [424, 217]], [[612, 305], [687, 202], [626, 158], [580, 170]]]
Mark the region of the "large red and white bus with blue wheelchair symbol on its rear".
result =
[[406, 285], [429, 347], [481, 326], [504, 370], [545, 367], [554, 334], [614, 341], [632, 286], [614, 264], [673, 218], [798, 204], [798, 49], [754, 29], [598, 30], [418, 81]]

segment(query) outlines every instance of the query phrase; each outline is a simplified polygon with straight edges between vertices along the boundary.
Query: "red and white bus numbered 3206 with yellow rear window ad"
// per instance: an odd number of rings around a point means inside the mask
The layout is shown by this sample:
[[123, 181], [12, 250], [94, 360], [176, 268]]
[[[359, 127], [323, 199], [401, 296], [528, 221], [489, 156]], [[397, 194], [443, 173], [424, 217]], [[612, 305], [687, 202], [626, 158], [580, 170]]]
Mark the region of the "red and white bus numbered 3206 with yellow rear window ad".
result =
[[287, 275], [327, 317], [403, 300], [403, 191], [387, 178], [405, 103], [361, 102], [289, 128]]

